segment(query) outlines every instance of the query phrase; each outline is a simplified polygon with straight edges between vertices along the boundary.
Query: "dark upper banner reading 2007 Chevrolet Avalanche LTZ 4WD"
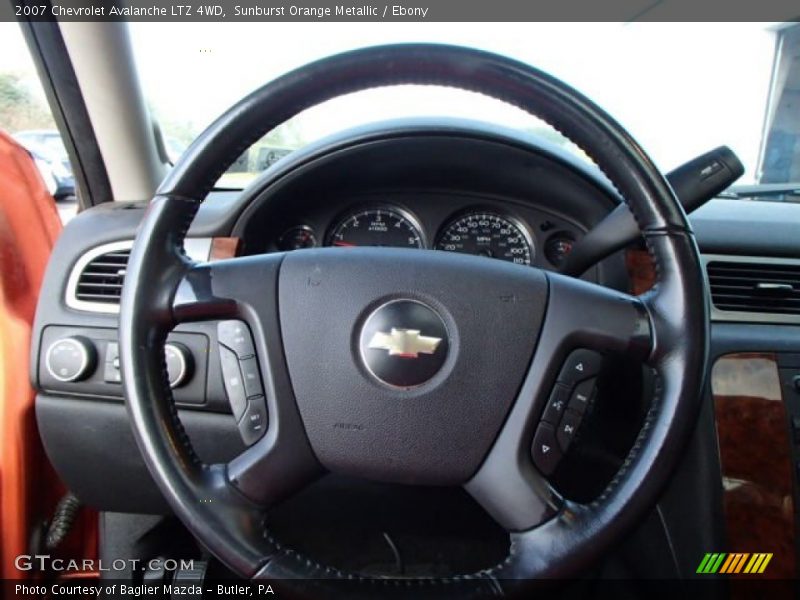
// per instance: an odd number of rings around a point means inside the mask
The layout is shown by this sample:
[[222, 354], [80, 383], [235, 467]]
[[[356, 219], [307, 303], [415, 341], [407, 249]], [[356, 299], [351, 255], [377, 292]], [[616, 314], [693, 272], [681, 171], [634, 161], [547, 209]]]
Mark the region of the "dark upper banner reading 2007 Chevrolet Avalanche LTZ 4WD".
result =
[[0, 21], [797, 21], [797, 0], [0, 0]]

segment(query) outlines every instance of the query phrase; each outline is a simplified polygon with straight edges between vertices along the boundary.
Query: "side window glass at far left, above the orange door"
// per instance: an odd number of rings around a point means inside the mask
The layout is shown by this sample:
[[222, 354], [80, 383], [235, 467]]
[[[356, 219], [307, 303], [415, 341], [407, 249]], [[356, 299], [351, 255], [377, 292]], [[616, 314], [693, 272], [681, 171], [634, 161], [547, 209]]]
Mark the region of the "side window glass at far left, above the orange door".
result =
[[78, 206], [72, 165], [16, 23], [0, 23], [0, 130], [30, 152], [61, 220], [69, 221]]

